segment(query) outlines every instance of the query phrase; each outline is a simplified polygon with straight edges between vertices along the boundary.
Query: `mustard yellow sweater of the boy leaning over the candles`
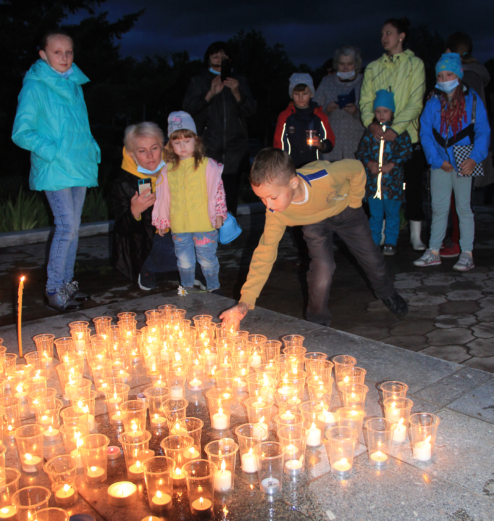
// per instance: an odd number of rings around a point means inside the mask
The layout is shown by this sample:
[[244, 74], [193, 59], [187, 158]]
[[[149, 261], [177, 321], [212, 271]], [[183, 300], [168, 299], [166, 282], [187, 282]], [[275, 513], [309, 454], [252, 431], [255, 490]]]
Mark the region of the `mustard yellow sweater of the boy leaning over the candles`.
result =
[[297, 170], [308, 189], [305, 203], [290, 204], [284, 212], [266, 210], [264, 233], [254, 250], [249, 275], [240, 290], [240, 301], [253, 309], [273, 268], [278, 243], [287, 226], [310, 225], [341, 213], [347, 206], [359, 208], [365, 194], [366, 175], [360, 161], [314, 161]]

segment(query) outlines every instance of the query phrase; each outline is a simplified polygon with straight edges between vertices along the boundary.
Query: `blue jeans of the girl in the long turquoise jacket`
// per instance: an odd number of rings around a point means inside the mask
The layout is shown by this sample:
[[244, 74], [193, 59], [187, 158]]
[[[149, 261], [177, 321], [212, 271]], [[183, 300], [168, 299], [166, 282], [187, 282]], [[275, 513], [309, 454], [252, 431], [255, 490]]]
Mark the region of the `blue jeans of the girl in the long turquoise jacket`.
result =
[[61, 290], [74, 276], [79, 227], [86, 187], [45, 190], [46, 198], [55, 218], [55, 233], [48, 259], [46, 289], [53, 293]]

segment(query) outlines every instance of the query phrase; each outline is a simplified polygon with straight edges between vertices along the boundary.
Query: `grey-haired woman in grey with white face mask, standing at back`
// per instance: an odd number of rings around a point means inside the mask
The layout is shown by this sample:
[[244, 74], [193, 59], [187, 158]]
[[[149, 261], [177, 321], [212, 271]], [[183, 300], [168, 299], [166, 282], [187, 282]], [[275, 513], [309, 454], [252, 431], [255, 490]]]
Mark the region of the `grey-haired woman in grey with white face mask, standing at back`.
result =
[[355, 159], [354, 152], [364, 133], [359, 110], [362, 56], [355, 47], [345, 45], [335, 52], [333, 66], [336, 74], [325, 76], [314, 95], [335, 133], [335, 146], [324, 154], [324, 159]]

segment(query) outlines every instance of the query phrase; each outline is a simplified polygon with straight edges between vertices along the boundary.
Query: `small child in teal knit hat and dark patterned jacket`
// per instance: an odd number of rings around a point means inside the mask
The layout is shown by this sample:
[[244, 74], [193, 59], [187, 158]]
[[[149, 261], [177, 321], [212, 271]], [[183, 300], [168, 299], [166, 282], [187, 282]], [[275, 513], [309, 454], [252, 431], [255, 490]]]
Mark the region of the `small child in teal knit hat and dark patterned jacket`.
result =
[[[394, 94], [381, 89], [374, 100], [374, 120], [390, 126], [394, 116]], [[412, 140], [405, 130], [393, 141], [384, 141], [379, 169], [380, 141], [366, 130], [355, 152], [365, 167], [364, 200], [369, 204], [369, 226], [376, 244], [381, 243], [382, 220], [386, 213], [385, 245], [382, 253], [394, 255], [400, 231], [400, 206], [404, 198], [403, 163], [412, 157]]]

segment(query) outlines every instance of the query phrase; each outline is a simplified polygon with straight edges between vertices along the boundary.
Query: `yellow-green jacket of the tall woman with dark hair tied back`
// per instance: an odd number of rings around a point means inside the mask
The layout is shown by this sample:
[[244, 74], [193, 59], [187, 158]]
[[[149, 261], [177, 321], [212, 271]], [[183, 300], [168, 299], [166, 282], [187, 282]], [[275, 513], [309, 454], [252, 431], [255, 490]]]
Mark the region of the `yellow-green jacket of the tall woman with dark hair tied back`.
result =
[[374, 119], [373, 104], [379, 89], [394, 93], [396, 110], [391, 128], [397, 134], [407, 130], [412, 143], [416, 143], [425, 93], [424, 62], [407, 49], [393, 56], [383, 54], [367, 65], [360, 91], [360, 112], [365, 128]]

